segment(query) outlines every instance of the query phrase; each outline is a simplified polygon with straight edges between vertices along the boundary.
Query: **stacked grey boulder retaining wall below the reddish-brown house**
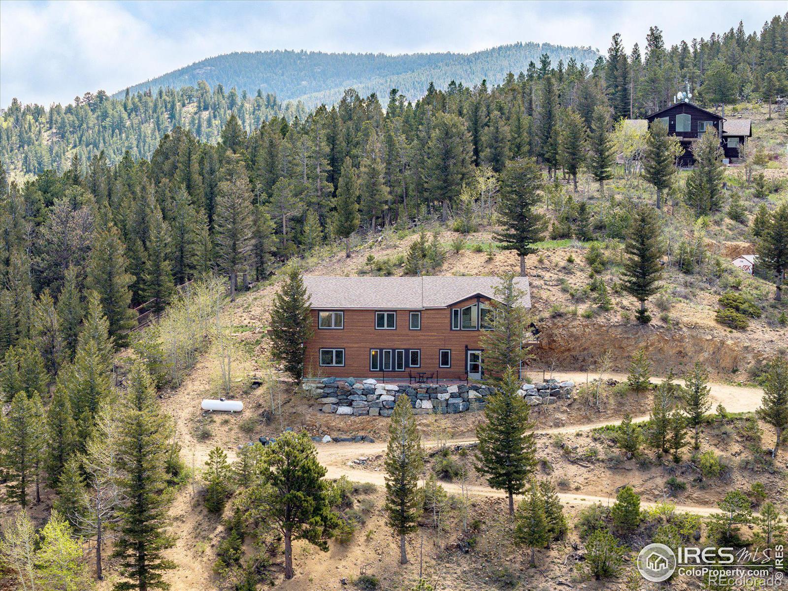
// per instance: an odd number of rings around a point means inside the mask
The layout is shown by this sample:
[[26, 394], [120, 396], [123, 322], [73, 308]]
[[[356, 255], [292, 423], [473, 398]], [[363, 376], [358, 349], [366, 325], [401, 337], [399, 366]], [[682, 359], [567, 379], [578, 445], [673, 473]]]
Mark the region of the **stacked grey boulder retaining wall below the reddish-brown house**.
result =
[[[571, 398], [573, 388], [574, 382], [553, 379], [542, 384], [523, 384], [518, 394], [531, 405], [552, 404]], [[477, 384], [378, 384], [374, 379], [355, 381], [352, 377], [326, 377], [305, 383], [303, 389], [320, 411], [356, 417], [390, 417], [400, 396], [407, 396], [414, 414], [481, 411], [487, 405], [486, 399], [495, 393], [492, 386]]]

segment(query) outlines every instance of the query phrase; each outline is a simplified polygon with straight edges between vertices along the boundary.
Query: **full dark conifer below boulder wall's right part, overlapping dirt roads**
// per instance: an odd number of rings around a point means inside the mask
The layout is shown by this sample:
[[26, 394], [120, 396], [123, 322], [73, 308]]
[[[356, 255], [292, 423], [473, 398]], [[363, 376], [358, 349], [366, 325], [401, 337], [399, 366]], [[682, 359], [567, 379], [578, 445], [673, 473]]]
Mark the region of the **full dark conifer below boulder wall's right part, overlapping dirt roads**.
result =
[[522, 494], [536, 465], [533, 423], [518, 390], [518, 376], [509, 368], [498, 392], [487, 401], [487, 421], [476, 429], [476, 469], [493, 489], [507, 492], [509, 515], [515, 514], [515, 494]]

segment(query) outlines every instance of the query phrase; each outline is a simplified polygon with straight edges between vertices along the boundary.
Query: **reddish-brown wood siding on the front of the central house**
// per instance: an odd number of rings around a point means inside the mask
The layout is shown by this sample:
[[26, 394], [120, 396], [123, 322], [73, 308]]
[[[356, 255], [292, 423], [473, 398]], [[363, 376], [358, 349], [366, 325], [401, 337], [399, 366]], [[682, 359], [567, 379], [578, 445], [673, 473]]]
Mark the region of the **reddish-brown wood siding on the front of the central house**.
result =
[[[489, 299], [480, 298], [480, 301], [489, 302]], [[448, 308], [396, 310], [394, 330], [375, 329], [376, 310], [342, 310], [344, 329], [318, 329], [319, 310], [312, 310], [314, 336], [307, 342], [304, 374], [307, 377], [382, 377], [382, 372], [370, 371], [370, 349], [419, 349], [422, 352], [421, 367], [406, 367], [400, 372], [386, 370], [386, 380], [396, 381], [397, 376], [401, 375], [402, 379], [407, 381], [409, 369], [414, 373], [423, 371], [431, 374], [438, 371], [447, 377], [464, 377], [466, 349], [480, 349], [479, 337], [482, 331], [452, 330], [452, 308], [465, 307], [472, 303], [476, 303], [476, 298], [463, 300]], [[421, 330], [410, 329], [411, 311], [422, 313]], [[343, 348], [344, 366], [321, 366], [320, 350], [324, 348]], [[441, 349], [452, 351], [451, 367], [438, 366]]]

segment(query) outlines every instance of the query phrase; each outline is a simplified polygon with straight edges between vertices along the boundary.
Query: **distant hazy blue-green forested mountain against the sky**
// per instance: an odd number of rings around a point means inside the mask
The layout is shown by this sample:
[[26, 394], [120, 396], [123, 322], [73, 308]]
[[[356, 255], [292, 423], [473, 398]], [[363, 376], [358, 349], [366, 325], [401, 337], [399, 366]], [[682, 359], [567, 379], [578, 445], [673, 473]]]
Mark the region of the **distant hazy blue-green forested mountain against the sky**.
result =
[[[239, 92], [277, 95], [282, 101], [301, 100], [307, 107], [338, 101], [345, 88], [361, 95], [373, 92], [385, 96], [398, 88], [407, 99], [415, 100], [430, 82], [438, 86], [450, 80], [474, 83], [487, 79], [498, 84], [506, 72], [525, 71], [530, 61], [548, 54], [553, 62], [574, 58], [593, 65], [596, 51], [585, 47], [554, 46], [549, 43], [515, 43], [477, 51], [473, 54], [326, 54], [320, 51], [255, 51], [218, 55], [195, 64], [135, 84], [132, 92], [159, 88], [195, 86], [205, 80], [210, 86], [222, 84]], [[122, 91], [115, 95], [121, 98]]]

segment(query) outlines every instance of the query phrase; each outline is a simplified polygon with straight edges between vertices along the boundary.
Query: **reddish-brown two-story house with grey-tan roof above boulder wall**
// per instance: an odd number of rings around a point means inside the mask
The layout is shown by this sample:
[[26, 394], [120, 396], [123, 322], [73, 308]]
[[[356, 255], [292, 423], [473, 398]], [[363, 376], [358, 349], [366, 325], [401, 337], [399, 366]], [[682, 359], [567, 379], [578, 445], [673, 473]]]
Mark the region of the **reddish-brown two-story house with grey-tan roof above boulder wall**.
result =
[[[497, 277], [304, 277], [314, 336], [304, 373], [388, 381], [480, 379]], [[526, 277], [515, 278], [530, 308]]]

